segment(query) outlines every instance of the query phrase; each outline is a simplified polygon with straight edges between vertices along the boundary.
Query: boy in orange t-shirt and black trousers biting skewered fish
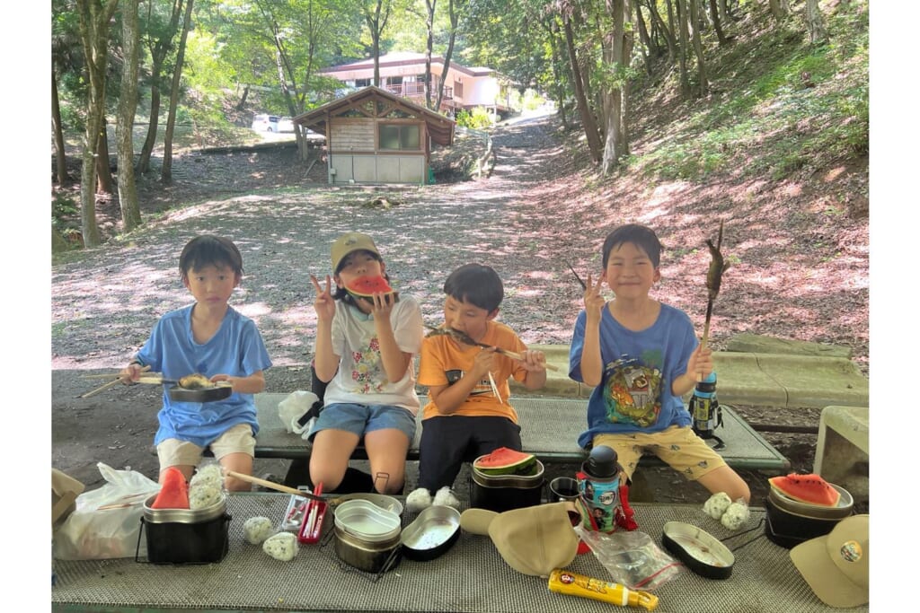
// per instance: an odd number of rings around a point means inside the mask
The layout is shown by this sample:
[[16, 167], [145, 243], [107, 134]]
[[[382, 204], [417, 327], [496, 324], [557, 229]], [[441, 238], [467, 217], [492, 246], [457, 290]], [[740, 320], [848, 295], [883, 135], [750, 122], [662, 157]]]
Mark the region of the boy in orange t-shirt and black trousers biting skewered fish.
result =
[[528, 349], [510, 327], [494, 321], [504, 297], [495, 270], [459, 267], [444, 282], [444, 294], [441, 330], [447, 334], [429, 335], [421, 344], [419, 384], [428, 386], [429, 402], [422, 416], [419, 488], [406, 498], [410, 511], [431, 506], [432, 493], [433, 504], [458, 506], [451, 486], [465, 460], [501, 447], [520, 451], [508, 379], [528, 390], [546, 383], [543, 352]]

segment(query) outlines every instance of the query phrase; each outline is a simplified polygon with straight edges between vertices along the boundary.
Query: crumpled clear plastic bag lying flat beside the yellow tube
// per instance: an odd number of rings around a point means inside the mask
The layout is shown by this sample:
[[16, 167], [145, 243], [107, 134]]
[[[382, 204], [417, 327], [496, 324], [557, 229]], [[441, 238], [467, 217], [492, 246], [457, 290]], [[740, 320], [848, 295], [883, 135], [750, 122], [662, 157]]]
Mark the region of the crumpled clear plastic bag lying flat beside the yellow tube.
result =
[[597, 532], [576, 526], [581, 540], [610, 572], [614, 582], [634, 590], [654, 590], [680, 573], [681, 564], [645, 532]]

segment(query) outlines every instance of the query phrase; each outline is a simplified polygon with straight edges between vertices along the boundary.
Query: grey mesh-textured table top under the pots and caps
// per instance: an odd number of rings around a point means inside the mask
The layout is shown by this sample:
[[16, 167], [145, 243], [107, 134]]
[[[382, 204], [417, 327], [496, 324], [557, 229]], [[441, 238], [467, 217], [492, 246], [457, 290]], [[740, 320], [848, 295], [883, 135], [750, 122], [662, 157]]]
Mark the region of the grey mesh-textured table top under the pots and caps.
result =
[[[435, 560], [404, 559], [395, 570], [375, 576], [339, 562], [330, 540], [332, 514], [328, 514], [320, 543], [301, 545], [293, 561], [274, 560], [260, 546], [247, 542], [243, 524], [249, 517], [269, 517], [280, 525], [289, 500], [287, 494], [230, 494], [229, 552], [222, 562], [160, 565], [135, 562], [133, 558], [55, 561], [58, 581], [52, 588], [52, 604], [66, 611], [613, 610], [604, 602], [550, 592], [545, 578], [515, 572], [488, 537], [466, 531], [461, 531], [454, 546]], [[664, 523], [684, 521], [723, 539], [735, 550], [732, 573], [725, 580], [705, 579], [681, 567], [671, 581], [654, 590], [660, 598], [657, 611], [836, 610], [813, 595], [789, 562], [788, 550], [765, 538], [762, 524], [758, 524], [765, 517], [764, 509], [752, 509], [748, 527], [753, 530], [739, 535], [707, 517], [696, 505], [635, 506], [638, 530], [659, 546]], [[403, 527], [413, 518], [403, 517]], [[577, 556], [566, 568], [612, 581], [611, 573], [591, 552]], [[868, 607], [848, 610], [866, 611]]]

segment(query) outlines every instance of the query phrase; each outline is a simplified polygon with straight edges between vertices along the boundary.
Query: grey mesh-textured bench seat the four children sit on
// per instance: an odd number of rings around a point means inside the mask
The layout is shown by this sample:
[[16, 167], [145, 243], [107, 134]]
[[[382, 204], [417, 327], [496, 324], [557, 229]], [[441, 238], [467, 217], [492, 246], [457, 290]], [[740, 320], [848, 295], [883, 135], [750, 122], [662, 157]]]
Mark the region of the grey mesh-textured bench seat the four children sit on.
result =
[[[278, 416], [278, 403], [287, 396], [286, 393], [256, 394], [259, 410], [257, 458], [305, 460], [310, 457], [310, 444], [299, 435], [288, 433]], [[576, 442], [586, 427], [586, 399], [512, 396], [512, 405], [521, 424], [521, 441], [525, 451], [533, 453], [542, 462], [575, 464], [586, 458], [584, 449]], [[719, 427], [716, 435], [725, 441], [725, 448], [719, 449], [719, 454], [729, 466], [744, 470], [784, 471], [789, 468], [789, 460], [730, 406], [723, 404], [722, 414], [725, 427]], [[419, 460], [421, 423], [419, 417], [407, 460]], [[351, 457], [366, 460], [367, 454], [359, 446]], [[647, 460], [650, 465], [661, 465], [657, 457], [650, 456], [642, 461]]]

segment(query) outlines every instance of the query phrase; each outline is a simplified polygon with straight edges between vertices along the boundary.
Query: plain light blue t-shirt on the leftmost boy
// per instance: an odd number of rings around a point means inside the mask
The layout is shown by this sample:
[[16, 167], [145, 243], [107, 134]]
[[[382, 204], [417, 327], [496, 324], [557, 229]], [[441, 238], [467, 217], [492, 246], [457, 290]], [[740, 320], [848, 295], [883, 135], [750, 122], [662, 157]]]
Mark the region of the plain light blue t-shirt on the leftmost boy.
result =
[[[193, 307], [170, 311], [160, 318], [137, 353], [136, 358], [144, 366], [162, 372], [163, 378], [170, 380], [195, 372], [208, 378], [216, 374], [247, 377], [271, 366], [255, 322], [232, 307], [227, 309], [221, 327], [207, 343], [195, 342], [191, 334]], [[237, 424], [252, 426], [253, 435], [259, 432], [256, 402], [251, 393], [234, 392], [227, 399], [213, 403], [179, 403], [169, 399], [164, 387], [163, 408], [157, 417], [160, 427], [155, 445], [167, 438], [179, 438], [207, 447]]]

